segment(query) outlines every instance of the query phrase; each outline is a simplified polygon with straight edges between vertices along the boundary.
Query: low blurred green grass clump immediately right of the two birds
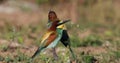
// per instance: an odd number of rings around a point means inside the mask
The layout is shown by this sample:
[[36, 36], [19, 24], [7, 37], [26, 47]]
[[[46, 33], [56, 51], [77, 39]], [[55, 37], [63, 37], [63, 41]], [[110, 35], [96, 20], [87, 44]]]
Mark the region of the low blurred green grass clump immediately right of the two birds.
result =
[[103, 40], [97, 35], [89, 35], [83, 39], [71, 37], [71, 45], [73, 47], [102, 46]]

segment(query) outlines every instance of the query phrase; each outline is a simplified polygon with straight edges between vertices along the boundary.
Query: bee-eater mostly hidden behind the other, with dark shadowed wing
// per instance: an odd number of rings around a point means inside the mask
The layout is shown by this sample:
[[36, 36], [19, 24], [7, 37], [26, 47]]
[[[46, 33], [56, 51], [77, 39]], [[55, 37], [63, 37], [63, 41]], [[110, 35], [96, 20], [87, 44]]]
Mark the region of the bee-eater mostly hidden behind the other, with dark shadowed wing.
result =
[[[52, 22], [54, 22], [56, 20], [59, 21], [59, 23], [63, 22], [62, 20], [58, 19], [55, 11], [49, 11], [49, 13], [48, 13], [48, 27], [51, 25]], [[70, 50], [70, 52], [72, 54], [73, 59], [76, 60], [76, 56], [71, 48], [70, 38], [69, 38], [69, 35], [67, 33], [67, 28], [66, 28], [65, 24], [58, 26], [57, 29], [59, 29], [57, 32], [61, 34], [61, 39], [60, 39], [61, 43], [65, 47], [68, 47], [68, 49]], [[55, 57], [57, 57], [55, 48], [53, 48], [53, 54]]]

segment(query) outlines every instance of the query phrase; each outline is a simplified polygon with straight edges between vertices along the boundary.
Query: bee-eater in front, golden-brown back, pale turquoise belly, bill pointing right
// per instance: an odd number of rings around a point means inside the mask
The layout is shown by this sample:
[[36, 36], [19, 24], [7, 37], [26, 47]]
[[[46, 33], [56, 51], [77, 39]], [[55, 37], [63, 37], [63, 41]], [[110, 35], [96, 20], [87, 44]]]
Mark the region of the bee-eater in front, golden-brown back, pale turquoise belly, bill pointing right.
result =
[[51, 26], [47, 29], [46, 33], [43, 35], [41, 39], [41, 44], [34, 55], [31, 57], [33, 59], [45, 48], [54, 48], [59, 40], [61, 39], [62, 33], [57, 26], [62, 25], [70, 20], [63, 21], [59, 23], [59, 21], [52, 22]]

